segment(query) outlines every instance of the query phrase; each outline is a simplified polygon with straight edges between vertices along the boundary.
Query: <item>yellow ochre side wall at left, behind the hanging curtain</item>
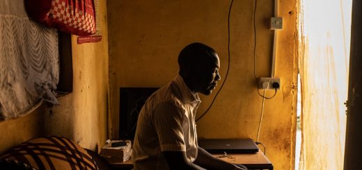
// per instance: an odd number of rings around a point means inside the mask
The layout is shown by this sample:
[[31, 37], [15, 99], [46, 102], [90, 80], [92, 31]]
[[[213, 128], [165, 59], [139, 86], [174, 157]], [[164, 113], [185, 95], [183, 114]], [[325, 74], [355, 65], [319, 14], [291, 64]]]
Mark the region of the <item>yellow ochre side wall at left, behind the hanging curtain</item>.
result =
[[107, 140], [108, 32], [106, 1], [99, 1], [102, 41], [77, 44], [72, 35], [73, 92], [24, 117], [0, 122], [0, 153], [27, 139], [62, 135], [93, 151]]

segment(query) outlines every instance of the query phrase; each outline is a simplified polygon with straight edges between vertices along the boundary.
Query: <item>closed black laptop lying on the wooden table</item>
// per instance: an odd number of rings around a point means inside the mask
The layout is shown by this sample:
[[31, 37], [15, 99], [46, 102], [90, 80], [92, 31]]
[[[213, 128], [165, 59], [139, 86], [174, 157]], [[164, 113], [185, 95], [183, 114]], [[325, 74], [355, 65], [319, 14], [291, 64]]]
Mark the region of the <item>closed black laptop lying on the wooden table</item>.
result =
[[210, 153], [255, 153], [258, 146], [252, 139], [198, 139], [198, 146]]

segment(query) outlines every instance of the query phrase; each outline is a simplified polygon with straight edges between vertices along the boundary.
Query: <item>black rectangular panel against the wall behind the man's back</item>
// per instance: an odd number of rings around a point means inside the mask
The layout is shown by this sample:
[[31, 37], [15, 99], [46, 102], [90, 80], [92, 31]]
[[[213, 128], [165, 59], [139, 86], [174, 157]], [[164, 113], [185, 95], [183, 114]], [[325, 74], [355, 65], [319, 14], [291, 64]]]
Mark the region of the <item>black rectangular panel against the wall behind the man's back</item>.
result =
[[120, 139], [134, 139], [139, 112], [157, 87], [120, 87]]

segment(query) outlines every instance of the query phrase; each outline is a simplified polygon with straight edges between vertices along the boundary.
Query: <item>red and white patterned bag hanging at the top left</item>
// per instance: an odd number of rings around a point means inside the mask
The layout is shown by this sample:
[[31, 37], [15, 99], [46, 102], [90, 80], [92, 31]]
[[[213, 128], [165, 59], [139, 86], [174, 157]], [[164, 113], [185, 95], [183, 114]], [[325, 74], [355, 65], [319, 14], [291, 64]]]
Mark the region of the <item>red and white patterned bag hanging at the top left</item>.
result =
[[93, 0], [52, 0], [52, 3], [49, 0], [36, 1], [42, 3], [42, 6], [34, 6], [37, 3], [29, 2], [26, 7], [29, 14], [42, 24], [74, 35], [96, 33]]

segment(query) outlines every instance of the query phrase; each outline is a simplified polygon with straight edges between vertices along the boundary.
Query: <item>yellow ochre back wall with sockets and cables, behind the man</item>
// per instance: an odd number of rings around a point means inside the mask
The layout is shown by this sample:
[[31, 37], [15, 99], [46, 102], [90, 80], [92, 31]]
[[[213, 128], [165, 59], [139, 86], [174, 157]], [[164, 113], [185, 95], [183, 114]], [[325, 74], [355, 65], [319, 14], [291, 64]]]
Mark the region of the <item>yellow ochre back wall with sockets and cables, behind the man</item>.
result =
[[[205, 112], [225, 80], [228, 67], [228, 9], [231, 1], [109, 0], [109, 133], [118, 138], [119, 87], [161, 87], [178, 73], [180, 50], [203, 42], [219, 53], [222, 80], [210, 96], [201, 96]], [[212, 108], [197, 122], [198, 137], [256, 140], [262, 97], [254, 78], [253, 8], [255, 1], [235, 0], [230, 15], [230, 71]], [[278, 31], [275, 76], [281, 90], [265, 101], [259, 141], [275, 169], [294, 169], [297, 104], [296, 1], [279, 0], [283, 30]], [[257, 77], [271, 75], [274, 32], [269, 18], [274, 1], [258, 1], [256, 26]], [[262, 94], [262, 91], [260, 91]], [[272, 96], [274, 91], [267, 92]], [[261, 147], [262, 148], [262, 147]]]

